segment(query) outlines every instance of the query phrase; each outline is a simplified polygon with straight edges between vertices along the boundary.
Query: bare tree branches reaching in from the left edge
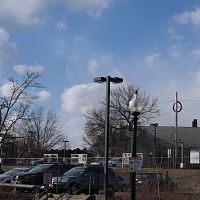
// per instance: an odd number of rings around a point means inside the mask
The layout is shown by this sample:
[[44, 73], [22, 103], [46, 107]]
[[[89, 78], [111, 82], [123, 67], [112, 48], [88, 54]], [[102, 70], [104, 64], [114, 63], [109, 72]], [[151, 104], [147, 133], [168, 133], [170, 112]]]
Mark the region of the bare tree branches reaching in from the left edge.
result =
[[31, 92], [32, 88], [41, 88], [38, 79], [40, 73], [27, 73], [22, 81], [9, 79], [9, 91], [0, 97], [0, 134], [1, 144], [5, 137], [12, 132], [14, 125], [28, 112], [31, 104], [37, 98]]

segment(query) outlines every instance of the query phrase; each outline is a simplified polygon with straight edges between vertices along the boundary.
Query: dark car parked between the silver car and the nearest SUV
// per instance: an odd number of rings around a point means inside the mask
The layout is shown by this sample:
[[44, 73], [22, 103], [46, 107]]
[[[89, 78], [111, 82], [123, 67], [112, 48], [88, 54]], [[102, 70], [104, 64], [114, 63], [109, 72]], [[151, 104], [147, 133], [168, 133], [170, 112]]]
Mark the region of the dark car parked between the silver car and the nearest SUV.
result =
[[73, 167], [75, 165], [59, 163], [39, 164], [28, 172], [18, 173], [15, 176], [15, 182], [17, 184], [42, 185], [45, 172], [51, 173], [52, 176], [60, 176]]

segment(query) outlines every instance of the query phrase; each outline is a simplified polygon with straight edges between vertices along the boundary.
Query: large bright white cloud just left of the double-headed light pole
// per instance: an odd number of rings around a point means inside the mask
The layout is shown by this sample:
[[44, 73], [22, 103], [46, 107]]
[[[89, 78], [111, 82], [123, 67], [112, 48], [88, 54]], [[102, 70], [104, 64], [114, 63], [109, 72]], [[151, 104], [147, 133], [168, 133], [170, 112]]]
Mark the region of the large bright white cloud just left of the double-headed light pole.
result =
[[98, 84], [82, 84], [66, 88], [61, 96], [65, 112], [83, 114], [87, 109], [98, 104], [104, 95], [104, 87]]

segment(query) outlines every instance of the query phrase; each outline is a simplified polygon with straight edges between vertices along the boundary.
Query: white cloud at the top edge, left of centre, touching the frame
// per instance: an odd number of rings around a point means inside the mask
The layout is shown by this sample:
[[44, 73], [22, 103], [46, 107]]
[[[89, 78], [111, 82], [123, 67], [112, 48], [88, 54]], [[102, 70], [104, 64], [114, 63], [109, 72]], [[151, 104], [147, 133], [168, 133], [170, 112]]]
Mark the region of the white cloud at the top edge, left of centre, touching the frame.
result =
[[67, 9], [83, 11], [90, 16], [101, 17], [102, 11], [108, 8], [116, 0], [68, 0], [63, 1]]

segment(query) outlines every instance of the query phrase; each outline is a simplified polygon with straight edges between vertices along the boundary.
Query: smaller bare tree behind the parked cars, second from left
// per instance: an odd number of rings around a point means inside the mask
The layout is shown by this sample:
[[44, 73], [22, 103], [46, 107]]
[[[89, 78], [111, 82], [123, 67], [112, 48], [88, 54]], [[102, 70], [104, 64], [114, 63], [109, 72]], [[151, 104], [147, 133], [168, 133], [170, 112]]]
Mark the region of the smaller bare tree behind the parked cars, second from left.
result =
[[20, 135], [26, 138], [29, 157], [41, 157], [45, 151], [63, 145], [63, 140], [66, 139], [56, 114], [48, 111], [45, 115], [44, 107], [34, 109], [29, 117], [23, 120], [19, 131]]

